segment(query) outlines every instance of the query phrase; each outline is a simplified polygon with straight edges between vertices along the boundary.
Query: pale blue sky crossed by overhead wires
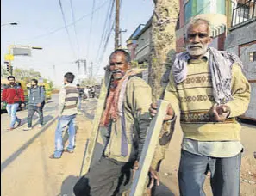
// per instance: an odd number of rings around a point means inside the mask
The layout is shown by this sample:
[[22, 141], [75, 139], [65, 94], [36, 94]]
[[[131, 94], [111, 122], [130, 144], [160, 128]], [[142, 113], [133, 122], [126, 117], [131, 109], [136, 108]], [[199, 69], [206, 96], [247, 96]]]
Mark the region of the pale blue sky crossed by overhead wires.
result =
[[[67, 71], [76, 75], [78, 83], [84, 70], [78, 70], [75, 61], [86, 59], [87, 66], [92, 63], [93, 77], [103, 77], [103, 67], [115, 45], [112, 29], [103, 55], [105, 42], [100, 43], [102, 35], [108, 34], [103, 34], [103, 29], [112, 27], [115, 18], [115, 6], [112, 17], [108, 15], [111, 4], [112, 0], [2, 0], [1, 64], [8, 46], [39, 46], [42, 50], [32, 50], [31, 57], [15, 56], [14, 68], [33, 68], [60, 86]], [[120, 28], [127, 30], [122, 33], [122, 46], [140, 24], [147, 23], [153, 8], [153, 0], [121, 0]], [[18, 25], [4, 25], [9, 22]]]

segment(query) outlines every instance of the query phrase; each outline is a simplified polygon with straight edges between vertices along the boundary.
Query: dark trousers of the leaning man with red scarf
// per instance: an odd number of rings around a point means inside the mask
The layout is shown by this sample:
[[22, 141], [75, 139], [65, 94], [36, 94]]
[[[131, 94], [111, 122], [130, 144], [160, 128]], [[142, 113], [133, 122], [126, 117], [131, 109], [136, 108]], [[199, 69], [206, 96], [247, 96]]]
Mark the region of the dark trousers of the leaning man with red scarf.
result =
[[76, 196], [112, 196], [127, 190], [132, 183], [134, 162], [117, 162], [101, 157], [74, 187]]

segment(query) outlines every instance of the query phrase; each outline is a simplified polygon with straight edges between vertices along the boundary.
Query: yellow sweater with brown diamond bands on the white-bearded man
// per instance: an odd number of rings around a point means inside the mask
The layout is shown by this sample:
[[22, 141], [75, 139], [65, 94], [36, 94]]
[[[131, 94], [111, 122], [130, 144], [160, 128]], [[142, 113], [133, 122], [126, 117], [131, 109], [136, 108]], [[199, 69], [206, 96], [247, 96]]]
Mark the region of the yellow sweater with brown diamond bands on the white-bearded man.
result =
[[233, 100], [225, 122], [210, 122], [209, 109], [215, 103], [208, 61], [190, 59], [187, 77], [182, 83], [174, 83], [172, 73], [165, 90], [165, 100], [170, 101], [175, 112], [180, 110], [180, 122], [184, 138], [197, 141], [239, 141], [240, 124], [234, 117], [245, 113], [250, 99], [250, 85], [238, 64], [232, 69]]

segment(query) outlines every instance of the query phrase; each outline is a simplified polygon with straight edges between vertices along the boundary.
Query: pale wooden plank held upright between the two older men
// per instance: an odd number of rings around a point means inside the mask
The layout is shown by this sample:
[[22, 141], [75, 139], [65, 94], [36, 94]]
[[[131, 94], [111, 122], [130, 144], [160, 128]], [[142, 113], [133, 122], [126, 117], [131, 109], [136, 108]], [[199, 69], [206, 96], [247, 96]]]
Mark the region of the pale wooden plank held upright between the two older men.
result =
[[156, 145], [159, 142], [159, 134], [165, 119], [168, 104], [168, 101], [163, 100], [159, 100], [157, 103], [158, 113], [155, 117], [153, 117], [148, 128], [147, 138], [140, 156], [139, 169], [135, 172], [130, 196], [143, 195], [144, 187], [147, 181], [148, 169], [150, 168], [153, 160]]

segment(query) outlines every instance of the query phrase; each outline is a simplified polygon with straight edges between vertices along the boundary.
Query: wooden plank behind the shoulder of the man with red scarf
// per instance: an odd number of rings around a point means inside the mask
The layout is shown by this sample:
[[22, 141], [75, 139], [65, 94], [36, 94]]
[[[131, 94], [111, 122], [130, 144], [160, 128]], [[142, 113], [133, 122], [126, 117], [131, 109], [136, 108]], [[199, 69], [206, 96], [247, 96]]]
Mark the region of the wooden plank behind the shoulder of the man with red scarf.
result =
[[99, 126], [100, 126], [100, 120], [103, 114], [103, 108], [105, 105], [105, 101], [107, 98], [107, 93], [109, 89], [109, 83], [110, 83], [111, 75], [106, 71], [104, 81], [102, 84], [101, 92], [97, 101], [97, 109], [95, 112], [95, 116], [93, 119], [93, 128], [91, 131], [91, 137], [89, 139], [88, 144], [86, 144], [85, 150], [84, 150], [84, 159], [82, 162], [82, 167], [80, 171], [80, 175], [85, 175], [89, 171], [89, 168], [91, 167], [91, 160], [93, 157], [95, 145], [97, 143], [97, 136], [99, 132]]

